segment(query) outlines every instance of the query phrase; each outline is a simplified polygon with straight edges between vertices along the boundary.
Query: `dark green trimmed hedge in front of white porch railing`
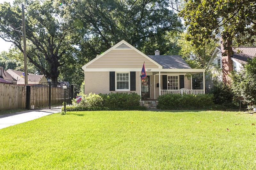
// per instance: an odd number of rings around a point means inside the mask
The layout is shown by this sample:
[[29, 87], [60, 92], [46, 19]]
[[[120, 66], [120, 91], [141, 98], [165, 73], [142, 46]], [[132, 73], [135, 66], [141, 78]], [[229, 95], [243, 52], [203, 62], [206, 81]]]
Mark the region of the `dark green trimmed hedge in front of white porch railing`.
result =
[[163, 110], [209, 109], [213, 103], [212, 94], [165, 94], [158, 98], [157, 108]]

